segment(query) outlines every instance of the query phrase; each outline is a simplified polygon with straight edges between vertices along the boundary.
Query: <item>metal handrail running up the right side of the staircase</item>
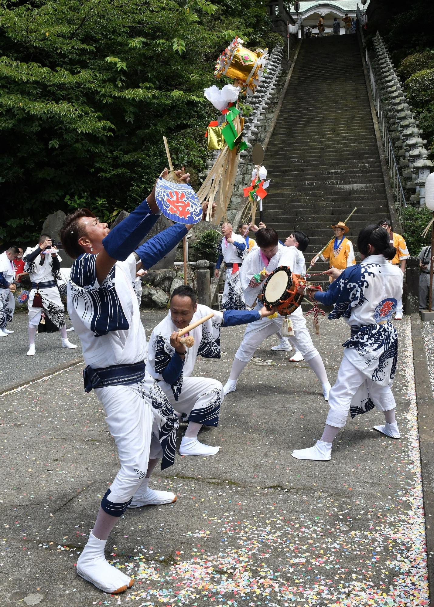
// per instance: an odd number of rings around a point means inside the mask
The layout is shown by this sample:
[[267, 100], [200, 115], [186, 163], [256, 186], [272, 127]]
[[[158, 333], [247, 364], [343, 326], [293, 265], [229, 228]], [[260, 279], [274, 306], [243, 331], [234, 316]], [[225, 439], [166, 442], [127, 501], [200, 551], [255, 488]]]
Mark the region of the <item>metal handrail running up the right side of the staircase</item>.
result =
[[387, 159], [387, 164], [389, 168], [389, 177], [390, 183], [393, 189], [393, 195], [396, 200], [396, 205], [398, 206], [398, 214], [401, 218], [402, 214], [402, 206], [404, 208], [407, 206], [407, 201], [405, 200], [404, 189], [402, 188], [401, 177], [399, 176], [398, 164], [396, 163], [396, 158], [393, 151], [393, 144], [390, 139], [390, 135], [387, 129], [387, 123], [384, 117], [384, 112], [381, 104], [380, 93], [378, 92], [377, 83], [375, 81], [374, 70], [371, 65], [370, 56], [368, 53], [367, 46], [365, 44], [365, 32], [363, 31], [363, 15], [360, 11], [360, 8], [357, 7], [356, 10], [357, 21], [359, 22], [359, 32], [360, 37], [363, 41], [363, 47], [365, 48], [365, 61], [368, 67], [369, 79], [371, 82], [372, 95], [374, 99], [375, 109], [377, 112], [378, 124], [381, 129], [381, 138], [383, 141], [384, 151]]

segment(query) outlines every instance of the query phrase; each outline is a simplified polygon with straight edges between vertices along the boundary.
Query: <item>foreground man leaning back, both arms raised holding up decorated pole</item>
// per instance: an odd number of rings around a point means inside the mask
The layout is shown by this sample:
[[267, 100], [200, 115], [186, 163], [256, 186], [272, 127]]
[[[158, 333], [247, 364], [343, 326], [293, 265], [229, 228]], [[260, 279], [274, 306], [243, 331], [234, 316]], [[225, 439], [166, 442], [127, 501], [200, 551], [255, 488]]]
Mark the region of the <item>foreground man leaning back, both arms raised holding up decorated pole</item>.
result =
[[[162, 177], [166, 175], [165, 169]], [[181, 177], [181, 171], [176, 175]], [[184, 181], [188, 177], [182, 175]], [[205, 205], [205, 214], [206, 210]], [[157, 382], [144, 381], [146, 335], [133, 284], [137, 270], [162, 259], [191, 226], [177, 223], [138, 246], [159, 215], [153, 189], [112, 230], [88, 209], [77, 209], [66, 217], [60, 231], [66, 253], [75, 259], [67, 309], [83, 345], [84, 390], [94, 389], [102, 402], [120, 460], [120, 470], [78, 557], [77, 574], [109, 594], [123, 592], [134, 583], [105, 560], [105, 544], [119, 517], [128, 507], [176, 500], [174, 493], [148, 486], [159, 459], [162, 469], [174, 462], [178, 421]]]

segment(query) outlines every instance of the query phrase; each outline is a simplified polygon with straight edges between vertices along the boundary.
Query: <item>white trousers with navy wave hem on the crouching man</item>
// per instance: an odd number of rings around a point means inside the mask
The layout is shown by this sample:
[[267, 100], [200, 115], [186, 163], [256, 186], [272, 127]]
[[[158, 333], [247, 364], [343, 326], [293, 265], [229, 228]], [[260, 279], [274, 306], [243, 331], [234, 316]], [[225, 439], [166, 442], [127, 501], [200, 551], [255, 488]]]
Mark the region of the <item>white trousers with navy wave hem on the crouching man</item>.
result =
[[[160, 384], [162, 387], [162, 384]], [[205, 426], [217, 426], [223, 387], [217, 379], [184, 378], [179, 399], [174, 399], [170, 387], [163, 390], [173, 410], [182, 418]]]

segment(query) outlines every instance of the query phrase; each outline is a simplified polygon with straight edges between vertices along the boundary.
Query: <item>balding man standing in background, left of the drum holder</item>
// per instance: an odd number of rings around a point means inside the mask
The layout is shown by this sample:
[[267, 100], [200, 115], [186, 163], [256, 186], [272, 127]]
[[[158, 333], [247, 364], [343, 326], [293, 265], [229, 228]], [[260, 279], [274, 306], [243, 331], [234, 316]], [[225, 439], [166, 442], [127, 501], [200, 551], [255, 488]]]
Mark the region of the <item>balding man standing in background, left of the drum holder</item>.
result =
[[225, 222], [221, 226], [223, 238], [217, 247], [218, 258], [215, 276], [219, 276], [221, 262], [226, 265], [226, 279], [222, 299], [223, 310], [246, 310], [243, 288], [239, 282], [239, 269], [246, 256], [247, 246], [241, 234], [234, 234], [232, 225]]

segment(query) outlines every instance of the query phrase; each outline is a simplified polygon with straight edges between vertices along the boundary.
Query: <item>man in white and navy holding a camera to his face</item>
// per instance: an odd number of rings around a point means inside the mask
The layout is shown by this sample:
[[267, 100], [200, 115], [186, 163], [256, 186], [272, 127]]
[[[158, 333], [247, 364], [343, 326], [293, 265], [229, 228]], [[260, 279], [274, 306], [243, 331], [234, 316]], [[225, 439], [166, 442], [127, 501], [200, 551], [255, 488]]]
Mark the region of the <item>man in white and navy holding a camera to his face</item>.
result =
[[[62, 348], [77, 348], [66, 335], [65, 310], [60, 299], [57, 280], [61, 281], [60, 262], [57, 249], [48, 234], [41, 234], [36, 246], [24, 251], [24, 271], [29, 273], [32, 290], [29, 294], [29, 350], [27, 356], [35, 356], [36, 330], [44, 313], [45, 321], [52, 322], [60, 331]], [[48, 320], [47, 320], [48, 319]], [[53, 328], [54, 329], [54, 328]], [[56, 329], [57, 330], [57, 329]]]

